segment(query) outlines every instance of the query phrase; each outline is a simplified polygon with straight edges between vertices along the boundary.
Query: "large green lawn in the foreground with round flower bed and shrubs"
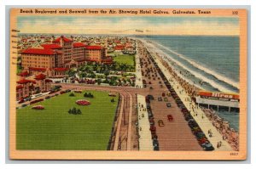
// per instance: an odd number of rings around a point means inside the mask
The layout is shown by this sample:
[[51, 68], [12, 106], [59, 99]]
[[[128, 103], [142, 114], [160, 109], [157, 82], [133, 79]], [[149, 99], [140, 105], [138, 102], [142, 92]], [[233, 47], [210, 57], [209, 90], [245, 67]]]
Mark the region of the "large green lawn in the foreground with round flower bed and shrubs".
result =
[[[75, 103], [85, 99], [83, 93], [69, 93], [37, 103], [44, 110], [32, 110], [32, 104], [17, 110], [16, 147], [17, 149], [71, 149], [106, 150], [111, 134], [113, 117], [118, 104], [110, 102], [107, 92], [86, 91], [94, 94], [90, 105]], [[70, 108], [79, 108], [82, 115], [70, 115]]]

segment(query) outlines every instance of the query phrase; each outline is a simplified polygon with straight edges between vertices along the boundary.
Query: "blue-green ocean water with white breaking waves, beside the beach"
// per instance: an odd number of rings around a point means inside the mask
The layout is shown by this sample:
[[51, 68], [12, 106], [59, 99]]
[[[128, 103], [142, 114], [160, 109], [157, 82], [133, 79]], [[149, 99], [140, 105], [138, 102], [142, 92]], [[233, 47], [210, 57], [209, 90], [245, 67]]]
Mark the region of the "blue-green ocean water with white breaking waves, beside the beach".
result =
[[[239, 37], [147, 36], [177, 72], [197, 87], [212, 92], [239, 93]], [[217, 111], [217, 110], [216, 110]], [[216, 112], [239, 129], [239, 112]]]

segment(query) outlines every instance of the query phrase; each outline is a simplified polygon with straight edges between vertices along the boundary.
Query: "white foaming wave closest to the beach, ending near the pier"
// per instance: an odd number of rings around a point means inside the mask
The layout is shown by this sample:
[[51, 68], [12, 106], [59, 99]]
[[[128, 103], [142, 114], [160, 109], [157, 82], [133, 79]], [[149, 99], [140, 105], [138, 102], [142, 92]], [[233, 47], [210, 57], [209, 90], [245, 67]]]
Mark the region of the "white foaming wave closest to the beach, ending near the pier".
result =
[[[152, 43], [148, 43], [142, 40], [144, 44], [146, 44], [149, 48], [148, 50], [154, 49], [154, 52], [159, 53], [161, 55], [165, 55], [164, 59], [170, 59], [173, 63], [183, 67], [183, 69], [188, 70], [191, 74], [196, 76], [199, 79], [202, 79], [204, 82], [208, 82], [212, 87], [217, 88], [219, 91], [222, 92], [228, 92], [228, 93], [234, 93], [234, 91], [230, 90], [227, 87], [223, 87], [222, 85], [218, 84], [217, 82], [214, 82], [213, 80], [207, 78], [206, 76], [201, 75], [200, 73], [196, 72], [195, 70], [191, 70], [187, 65], [183, 65], [181, 62], [177, 61], [177, 59], [173, 59], [169, 54], [166, 54], [165, 52], [161, 51], [159, 48], [156, 48]], [[170, 56], [170, 57], [167, 57]]]

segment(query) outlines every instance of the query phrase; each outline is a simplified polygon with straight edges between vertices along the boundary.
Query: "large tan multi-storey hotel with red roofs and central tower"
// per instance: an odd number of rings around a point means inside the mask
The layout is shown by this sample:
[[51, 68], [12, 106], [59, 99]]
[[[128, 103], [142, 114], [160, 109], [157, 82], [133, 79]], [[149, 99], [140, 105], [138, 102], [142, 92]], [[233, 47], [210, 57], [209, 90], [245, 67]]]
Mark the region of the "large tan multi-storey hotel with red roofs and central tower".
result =
[[64, 76], [69, 68], [90, 61], [111, 64], [113, 59], [107, 57], [107, 49], [102, 46], [86, 46], [63, 36], [50, 44], [21, 52], [21, 66], [32, 75]]

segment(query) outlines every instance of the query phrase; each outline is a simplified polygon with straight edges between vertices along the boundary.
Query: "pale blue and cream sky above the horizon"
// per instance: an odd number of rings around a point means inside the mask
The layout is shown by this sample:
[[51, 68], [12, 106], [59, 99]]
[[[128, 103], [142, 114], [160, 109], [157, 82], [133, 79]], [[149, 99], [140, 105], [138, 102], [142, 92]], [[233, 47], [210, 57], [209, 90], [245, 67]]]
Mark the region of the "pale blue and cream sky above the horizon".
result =
[[[20, 16], [21, 33], [238, 36], [235, 17]], [[140, 30], [143, 32], [139, 32]]]

